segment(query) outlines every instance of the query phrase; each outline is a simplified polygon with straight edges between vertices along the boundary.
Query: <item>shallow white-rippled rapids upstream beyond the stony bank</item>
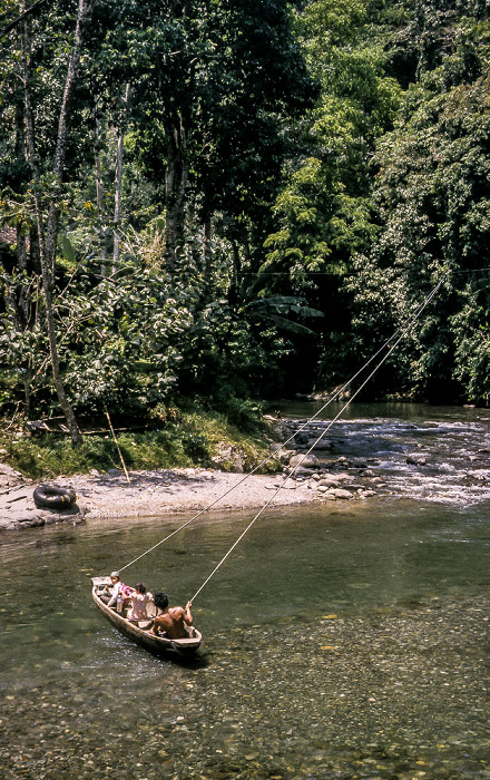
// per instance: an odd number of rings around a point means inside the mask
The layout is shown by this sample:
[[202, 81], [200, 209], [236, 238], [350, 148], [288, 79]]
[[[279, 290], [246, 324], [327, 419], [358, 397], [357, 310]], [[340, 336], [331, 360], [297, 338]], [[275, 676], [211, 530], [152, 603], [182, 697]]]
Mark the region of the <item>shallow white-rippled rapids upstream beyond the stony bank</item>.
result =
[[[280, 411], [294, 431], [320, 407], [283, 404]], [[329, 428], [313, 450], [323, 464], [346, 458], [360, 471], [374, 469], [384, 495], [460, 506], [490, 499], [490, 409], [354, 403], [331, 426], [340, 409], [329, 406], [300, 435], [305, 449]]]

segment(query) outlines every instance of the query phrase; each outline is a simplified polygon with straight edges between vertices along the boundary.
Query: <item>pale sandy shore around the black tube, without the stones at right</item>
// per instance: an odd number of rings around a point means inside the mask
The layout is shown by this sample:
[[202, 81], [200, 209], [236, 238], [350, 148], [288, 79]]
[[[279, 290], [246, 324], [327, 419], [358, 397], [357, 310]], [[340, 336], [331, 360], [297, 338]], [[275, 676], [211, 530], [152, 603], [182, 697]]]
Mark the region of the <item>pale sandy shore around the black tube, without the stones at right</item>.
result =
[[[4, 467], [3, 467], [4, 468]], [[111, 474], [58, 477], [60, 487], [72, 487], [77, 504], [62, 513], [39, 509], [33, 501], [37, 482], [11, 472], [0, 485], [0, 529], [12, 530], [52, 523], [79, 523], [104, 517], [150, 517], [173, 513], [216, 511], [306, 504], [320, 496], [306, 481], [284, 476], [228, 474], [209, 469], [131, 471], [129, 482], [117, 470]]]

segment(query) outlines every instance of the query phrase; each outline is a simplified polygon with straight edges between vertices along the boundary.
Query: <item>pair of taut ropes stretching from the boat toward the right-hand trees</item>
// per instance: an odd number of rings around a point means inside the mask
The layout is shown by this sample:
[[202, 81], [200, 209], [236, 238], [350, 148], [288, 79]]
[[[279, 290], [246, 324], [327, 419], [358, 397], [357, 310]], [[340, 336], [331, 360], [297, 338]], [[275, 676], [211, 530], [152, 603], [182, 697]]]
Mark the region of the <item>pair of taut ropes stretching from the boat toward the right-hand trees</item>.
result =
[[[313, 420], [315, 420], [315, 419], [318, 417], [318, 415], [321, 415], [321, 413], [326, 409], [326, 407], [327, 407], [330, 403], [332, 403], [336, 398], [339, 398], [339, 396], [340, 396], [341, 393], [343, 393], [343, 392], [346, 390], [346, 388], [347, 388], [347, 387], [349, 387], [349, 386], [350, 386], [350, 384], [351, 384], [351, 383], [367, 368], [367, 365], [370, 365], [370, 364], [383, 352], [383, 350], [386, 349], [386, 347], [388, 347], [394, 339], [396, 339], [395, 343], [394, 343], [394, 344], [391, 347], [391, 349], [386, 352], [386, 354], [384, 355], [384, 358], [378, 363], [378, 365], [374, 368], [374, 370], [369, 374], [367, 379], [361, 384], [361, 387], [355, 391], [355, 393], [349, 399], [349, 401], [347, 401], [347, 402], [345, 403], [345, 406], [341, 409], [341, 411], [334, 417], [334, 419], [331, 420], [331, 422], [329, 423], [329, 426], [322, 431], [322, 433], [321, 433], [321, 435], [318, 436], [318, 438], [314, 441], [314, 443], [313, 443], [312, 447], [307, 450], [307, 452], [304, 452], [304, 455], [303, 455], [302, 459], [300, 460], [300, 462], [298, 462], [298, 464], [295, 466], [295, 468], [285, 477], [285, 479], [283, 480], [283, 482], [278, 486], [278, 488], [277, 488], [277, 489], [275, 490], [275, 493], [272, 495], [271, 499], [262, 507], [262, 509], [257, 513], [257, 515], [254, 517], [254, 519], [249, 523], [249, 525], [247, 526], [247, 528], [245, 528], [244, 533], [238, 537], [238, 539], [234, 543], [234, 545], [231, 547], [231, 549], [226, 553], [226, 555], [225, 555], [225, 556], [222, 558], [222, 560], [217, 564], [216, 568], [212, 572], [212, 574], [207, 577], [207, 579], [203, 583], [203, 585], [200, 586], [200, 588], [199, 588], [199, 589], [197, 591], [197, 593], [195, 594], [195, 596], [194, 596], [194, 598], [195, 598], [195, 597], [200, 593], [200, 591], [205, 587], [205, 585], [209, 582], [209, 579], [213, 577], [213, 575], [218, 571], [218, 568], [222, 566], [222, 564], [226, 560], [226, 558], [227, 558], [228, 555], [233, 552], [233, 549], [235, 549], [236, 545], [237, 545], [237, 544], [241, 542], [241, 539], [245, 536], [245, 534], [248, 532], [248, 529], [252, 528], [252, 526], [253, 526], [254, 523], [258, 519], [258, 517], [263, 514], [263, 511], [264, 511], [268, 506], [271, 506], [272, 501], [273, 501], [274, 498], [277, 496], [277, 494], [280, 493], [280, 490], [282, 490], [282, 488], [285, 486], [285, 484], [288, 481], [288, 479], [291, 479], [291, 478], [296, 474], [296, 470], [300, 468], [300, 466], [301, 466], [301, 464], [303, 462], [304, 458], [305, 458], [307, 455], [310, 455], [310, 454], [312, 452], [312, 450], [316, 447], [316, 445], [317, 445], [317, 443], [323, 439], [323, 437], [327, 433], [327, 431], [329, 431], [330, 428], [333, 426], [333, 423], [336, 422], [336, 420], [337, 420], [337, 419], [340, 418], [340, 416], [345, 411], [345, 409], [349, 407], [349, 404], [352, 403], [352, 401], [354, 400], [354, 398], [355, 398], [356, 396], [359, 396], [359, 393], [361, 392], [361, 390], [365, 387], [365, 384], [370, 381], [370, 379], [372, 379], [372, 377], [374, 376], [374, 373], [375, 373], [375, 372], [379, 370], [379, 368], [384, 363], [384, 361], [390, 357], [390, 354], [391, 354], [391, 353], [393, 352], [393, 350], [398, 347], [398, 344], [399, 344], [400, 341], [403, 339], [403, 337], [408, 333], [408, 331], [410, 330], [410, 328], [414, 324], [414, 322], [416, 322], [416, 320], [419, 319], [419, 316], [420, 316], [420, 314], [422, 313], [422, 311], [428, 306], [428, 304], [430, 303], [430, 301], [434, 298], [434, 295], [435, 295], [435, 293], [438, 292], [439, 287], [441, 286], [441, 284], [443, 283], [443, 281], [447, 279], [447, 276], [449, 276], [450, 273], [451, 273], [451, 272], [448, 271], [448, 272], [441, 277], [441, 280], [438, 282], [438, 284], [437, 284], [437, 285], [431, 290], [431, 292], [427, 295], [427, 298], [424, 299], [424, 301], [418, 306], [418, 309], [415, 309], [414, 313], [413, 313], [413, 314], [411, 315], [411, 318], [408, 320], [406, 324], [400, 326], [389, 339], [386, 339], [386, 341], [383, 343], [383, 345], [380, 347], [380, 349], [364, 363], [364, 365], [363, 365], [353, 377], [351, 377], [351, 379], [350, 379], [347, 382], [345, 382], [345, 384], [343, 384], [343, 386], [332, 396], [332, 398], [330, 398], [314, 415], [312, 415], [312, 417], [310, 417], [302, 426], [300, 426], [300, 428], [298, 428], [288, 439], [286, 439], [283, 443], [278, 445], [278, 447], [277, 447], [276, 449], [274, 449], [266, 458], [264, 458], [254, 469], [252, 469], [252, 470], [251, 470], [248, 474], [246, 474], [241, 480], [238, 480], [238, 482], [236, 482], [236, 485], [233, 485], [232, 487], [229, 487], [224, 494], [222, 494], [220, 496], [218, 496], [218, 498], [215, 498], [214, 501], [212, 501], [210, 504], [208, 504], [204, 509], [200, 509], [199, 511], [197, 511], [197, 513], [196, 513], [195, 515], [193, 515], [193, 517], [190, 517], [186, 523], [183, 523], [178, 528], [176, 528], [175, 530], [173, 530], [173, 532], [171, 532], [170, 534], [168, 534], [165, 538], [160, 539], [160, 542], [157, 542], [157, 544], [155, 544], [153, 547], [149, 547], [147, 550], [145, 550], [144, 553], [141, 553], [140, 555], [138, 555], [136, 558], [134, 558], [133, 560], [130, 560], [128, 564], [126, 564], [125, 566], [120, 567], [120, 568], [119, 568], [119, 572], [124, 572], [126, 568], [129, 568], [129, 566], [133, 566], [133, 564], [135, 564], [137, 560], [140, 560], [140, 559], [144, 558], [146, 555], [148, 555], [149, 553], [153, 553], [153, 550], [157, 549], [157, 547], [159, 547], [160, 545], [165, 544], [165, 542], [168, 542], [168, 539], [170, 539], [173, 536], [175, 536], [175, 535], [178, 534], [180, 530], [183, 530], [184, 528], [186, 528], [188, 525], [190, 525], [192, 523], [194, 523], [194, 520], [196, 520], [198, 517], [200, 517], [200, 516], [204, 515], [205, 513], [209, 511], [209, 509], [212, 509], [214, 506], [216, 506], [216, 504], [218, 504], [223, 498], [225, 498], [225, 497], [228, 496], [233, 490], [235, 490], [237, 487], [239, 487], [241, 485], [243, 485], [243, 482], [245, 482], [245, 481], [248, 479], [248, 477], [251, 477], [251, 476], [252, 476], [253, 474], [255, 474], [259, 468], [262, 468], [262, 466], [264, 466], [268, 460], [271, 460], [271, 458], [273, 458], [273, 457], [281, 450], [282, 447], [284, 447], [284, 446], [286, 446], [287, 443], [290, 443], [290, 441], [292, 441], [292, 440], [294, 439], [294, 437], [295, 437], [297, 433], [300, 433], [300, 432], [301, 432], [302, 430], [304, 430]], [[194, 601], [194, 598], [190, 599], [190, 601]]]

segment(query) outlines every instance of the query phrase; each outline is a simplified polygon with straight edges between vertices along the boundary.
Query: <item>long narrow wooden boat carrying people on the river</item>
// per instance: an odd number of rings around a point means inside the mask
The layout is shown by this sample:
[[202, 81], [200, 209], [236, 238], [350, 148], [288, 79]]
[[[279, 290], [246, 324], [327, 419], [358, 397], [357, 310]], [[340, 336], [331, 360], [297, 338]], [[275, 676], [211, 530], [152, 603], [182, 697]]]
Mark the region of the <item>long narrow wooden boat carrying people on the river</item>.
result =
[[[149, 618], [147, 621], [139, 621], [138, 623], [133, 623], [116, 610], [107, 606], [105, 602], [100, 598], [106, 585], [111, 585], [110, 577], [92, 577], [92, 598], [100, 612], [107, 617], [112, 625], [116, 626], [118, 631], [125, 636], [139, 644], [145, 650], [148, 650], [155, 655], [163, 655], [166, 653], [178, 653], [180, 655], [187, 655], [195, 653], [203, 641], [203, 636], [197, 628], [194, 626], [189, 628], [189, 636], [184, 640], [170, 640], [168, 636], [157, 636], [153, 633], [151, 624], [153, 617], [158, 615], [161, 610], [156, 607], [154, 604], [149, 604], [147, 612]], [[153, 612], [153, 614], [151, 614]]]

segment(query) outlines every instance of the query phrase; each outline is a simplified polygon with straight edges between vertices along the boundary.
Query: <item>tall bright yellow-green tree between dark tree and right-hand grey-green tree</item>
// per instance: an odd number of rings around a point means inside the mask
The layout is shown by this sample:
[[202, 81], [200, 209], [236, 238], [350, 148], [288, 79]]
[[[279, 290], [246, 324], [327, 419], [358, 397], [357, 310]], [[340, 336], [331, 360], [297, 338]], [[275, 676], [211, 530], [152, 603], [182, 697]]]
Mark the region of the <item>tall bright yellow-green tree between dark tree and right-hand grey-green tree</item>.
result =
[[[315, 106], [296, 126], [296, 147], [284, 165], [265, 240], [263, 285], [302, 294], [325, 312], [315, 344], [297, 341], [307, 364], [303, 391], [333, 386], [349, 372], [343, 350], [350, 326], [342, 280], [352, 259], [375, 238], [371, 183], [376, 138], [392, 127], [401, 89], [385, 71], [385, 52], [367, 36], [369, 3], [316, 0], [296, 13], [295, 29], [308, 70], [320, 85]], [[292, 361], [294, 361], [294, 355]], [[290, 362], [290, 373], [297, 363]]]

